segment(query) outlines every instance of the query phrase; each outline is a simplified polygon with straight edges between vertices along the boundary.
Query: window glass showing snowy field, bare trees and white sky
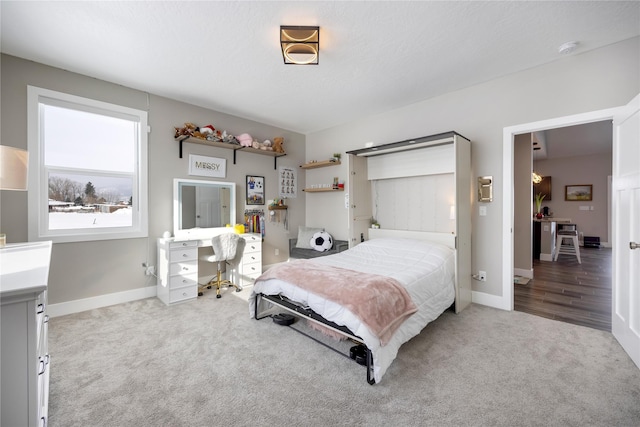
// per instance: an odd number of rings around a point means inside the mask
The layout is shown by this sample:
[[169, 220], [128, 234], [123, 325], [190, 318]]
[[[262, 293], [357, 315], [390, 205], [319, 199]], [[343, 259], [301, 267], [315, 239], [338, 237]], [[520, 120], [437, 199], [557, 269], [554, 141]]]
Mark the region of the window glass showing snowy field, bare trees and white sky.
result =
[[136, 123], [43, 109], [49, 230], [131, 227]]

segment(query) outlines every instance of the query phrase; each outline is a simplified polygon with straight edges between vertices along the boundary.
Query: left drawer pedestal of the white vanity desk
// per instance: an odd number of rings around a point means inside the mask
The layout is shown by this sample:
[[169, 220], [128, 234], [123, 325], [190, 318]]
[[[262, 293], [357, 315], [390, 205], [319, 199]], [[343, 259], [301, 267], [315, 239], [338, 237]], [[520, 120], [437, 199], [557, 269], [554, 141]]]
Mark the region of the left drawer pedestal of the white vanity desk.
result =
[[198, 240], [158, 239], [157, 296], [173, 304], [198, 296]]

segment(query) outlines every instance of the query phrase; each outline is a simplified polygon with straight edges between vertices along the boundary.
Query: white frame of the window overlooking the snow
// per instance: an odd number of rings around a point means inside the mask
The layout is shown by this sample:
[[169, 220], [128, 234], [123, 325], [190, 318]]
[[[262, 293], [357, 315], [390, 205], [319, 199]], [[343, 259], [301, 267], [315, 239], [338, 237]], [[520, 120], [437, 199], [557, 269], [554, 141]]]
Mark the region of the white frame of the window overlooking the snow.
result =
[[[138, 146], [135, 152], [131, 226], [49, 230], [49, 188], [44, 165], [44, 140], [42, 132], [40, 132], [41, 104], [64, 106], [111, 117], [127, 117], [137, 123]], [[27, 86], [27, 110], [29, 241], [52, 240], [54, 243], [64, 243], [148, 237], [147, 155], [149, 127], [147, 112], [35, 86]]]

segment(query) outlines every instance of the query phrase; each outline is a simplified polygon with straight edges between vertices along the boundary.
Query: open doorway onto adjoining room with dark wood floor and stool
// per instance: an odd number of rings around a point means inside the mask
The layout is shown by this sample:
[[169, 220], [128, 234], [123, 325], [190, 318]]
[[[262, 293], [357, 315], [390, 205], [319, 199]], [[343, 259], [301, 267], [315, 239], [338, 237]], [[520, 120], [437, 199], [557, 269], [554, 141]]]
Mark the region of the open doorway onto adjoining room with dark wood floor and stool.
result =
[[[527, 165], [532, 164], [531, 171], [517, 171], [514, 176], [514, 272], [529, 273], [529, 280], [514, 280], [516, 311], [611, 331], [608, 219], [612, 136], [612, 122], [607, 120], [515, 138], [516, 167], [529, 169]], [[546, 183], [533, 184], [533, 196], [544, 192], [542, 206], [546, 216], [542, 219], [532, 219], [531, 215], [532, 198], [527, 196], [532, 187], [531, 172]], [[591, 200], [566, 200], [565, 186], [583, 183], [593, 189]], [[603, 247], [579, 247], [582, 263], [575, 256], [564, 254], [553, 261], [554, 231], [562, 222], [576, 224], [581, 245], [583, 237], [588, 236], [597, 238]], [[532, 247], [533, 253], [525, 250]]]

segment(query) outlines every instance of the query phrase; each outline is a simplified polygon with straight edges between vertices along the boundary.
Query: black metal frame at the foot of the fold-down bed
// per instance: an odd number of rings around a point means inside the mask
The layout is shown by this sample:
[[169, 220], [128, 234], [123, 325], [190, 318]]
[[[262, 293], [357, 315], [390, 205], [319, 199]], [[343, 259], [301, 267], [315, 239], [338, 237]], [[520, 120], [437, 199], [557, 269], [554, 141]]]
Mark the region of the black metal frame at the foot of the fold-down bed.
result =
[[[304, 318], [307, 319], [311, 322], [315, 322], [319, 325], [322, 325], [326, 328], [331, 329], [334, 332], [337, 332], [341, 335], [344, 335], [345, 337], [349, 338], [350, 340], [362, 344], [364, 345], [364, 347], [366, 348], [367, 354], [366, 354], [366, 368], [367, 368], [367, 383], [373, 385], [376, 383], [376, 380], [373, 376], [373, 354], [371, 353], [371, 350], [366, 346], [366, 344], [364, 343], [363, 339], [358, 337], [357, 335], [354, 335], [353, 332], [351, 332], [349, 330], [349, 328], [345, 327], [345, 326], [341, 326], [338, 325], [334, 322], [331, 322], [329, 320], [326, 320], [324, 317], [320, 316], [318, 313], [316, 313], [315, 311], [306, 308], [306, 307], [302, 307], [301, 305], [298, 305], [294, 302], [292, 302], [290, 299], [288, 299], [285, 296], [282, 295], [265, 295], [265, 294], [256, 294], [256, 303], [255, 303], [255, 313], [254, 313], [254, 318], [256, 320], [261, 320], [264, 319], [265, 317], [271, 317], [271, 315], [269, 314], [264, 314], [267, 311], [271, 311], [272, 307], [269, 307], [268, 309], [265, 309], [264, 311], [260, 312], [260, 307], [261, 307], [261, 301], [262, 300], [267, 300], [268, 302], [270, 302], [271, 304], [293, 314], [296, 317], [299, 318]], [[291, 326], [289, 326], [291, 328]], [[291, 328], [294, 331], [311, 338], [312, 340], [314, 340], [315, 342], [322, 344], [323, 346], [335, 351], [336, 353], [351, 358], [349, 355], [344, 354], [343, 352], [335, 349], [334, 347], [331, 347], [330, 345], [312, 337], [311, 335], [306, 334], [305, 332], [296, 329], [296, 328]]]

